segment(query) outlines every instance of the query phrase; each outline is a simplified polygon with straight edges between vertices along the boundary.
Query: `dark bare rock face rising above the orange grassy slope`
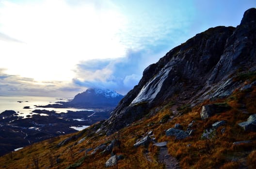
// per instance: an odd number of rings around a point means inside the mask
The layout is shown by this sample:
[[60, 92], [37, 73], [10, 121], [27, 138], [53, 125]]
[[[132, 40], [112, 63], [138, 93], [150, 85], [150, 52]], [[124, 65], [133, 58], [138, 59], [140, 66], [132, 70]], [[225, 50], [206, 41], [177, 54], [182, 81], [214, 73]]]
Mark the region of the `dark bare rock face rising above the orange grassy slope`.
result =
[[233, 80], [237, 70], [255, 71], [255, 62], [256, 9], [252, 8], [237, 28], [209, 28], [148, 66], [101, 131], [112, 134], [171, 99], [193, 106], [205, 99], [227, 97], [242, 84]]

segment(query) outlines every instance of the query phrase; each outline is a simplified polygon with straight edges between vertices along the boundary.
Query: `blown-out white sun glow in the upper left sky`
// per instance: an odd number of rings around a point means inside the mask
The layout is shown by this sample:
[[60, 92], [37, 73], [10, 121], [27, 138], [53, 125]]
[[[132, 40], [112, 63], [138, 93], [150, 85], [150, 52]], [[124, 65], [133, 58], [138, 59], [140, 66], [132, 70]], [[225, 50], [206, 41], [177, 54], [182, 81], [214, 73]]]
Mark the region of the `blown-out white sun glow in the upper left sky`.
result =
[[2, 1], [0, 33], [10, 40], [0, 41], [0, 68], [37, 81], [70, 81], [81, 60], [125, 55], [116, 36], [124, 20], [118, 11], [91, 3]]

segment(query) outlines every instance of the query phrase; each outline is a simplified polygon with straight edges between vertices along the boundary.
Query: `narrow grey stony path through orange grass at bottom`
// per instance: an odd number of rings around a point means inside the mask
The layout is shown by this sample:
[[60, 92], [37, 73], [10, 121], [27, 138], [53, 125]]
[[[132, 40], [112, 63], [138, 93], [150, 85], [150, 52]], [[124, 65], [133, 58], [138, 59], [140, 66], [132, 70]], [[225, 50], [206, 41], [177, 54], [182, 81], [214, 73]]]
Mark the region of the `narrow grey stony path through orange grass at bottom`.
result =
[[177, 159], [168, 154], [166, 146], [160, 147], [158, 161], [165, 164], [165, 169], [180, 169]]

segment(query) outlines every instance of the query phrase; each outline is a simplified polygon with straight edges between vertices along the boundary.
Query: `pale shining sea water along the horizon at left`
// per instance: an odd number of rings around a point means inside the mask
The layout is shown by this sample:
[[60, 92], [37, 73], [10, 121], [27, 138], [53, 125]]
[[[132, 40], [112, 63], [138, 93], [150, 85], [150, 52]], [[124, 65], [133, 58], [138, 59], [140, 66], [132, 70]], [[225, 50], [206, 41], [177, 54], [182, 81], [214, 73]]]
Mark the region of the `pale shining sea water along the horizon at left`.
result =
[[[84, 109], [55, 109], [55, 108], [37, 108], [35, 106], [38, 105], [48, 105], [53, 104], [56, 101], [67, 101], [68, 99], [56, 99], [53, 97], [38, 97], [38, 96], [0, 96], [0, 113], [4, 112], [5, 110], [14, 110], [20, 116], [26, 116], [31, 114], [33, 110], [40, 109], [40, 110], [48, 110], [48, 111], [56, 111], [56, 113], [66, 113], [69, 111], [81, 111]], [[20, 102], [18, 102], [20, 101]], [[23, 109], [25, 106], [30, 106], [31, 109]], [[90, 110], [87, 110], [90, 111]], [[44, 115], [44, 114], [41, 114]], [[46, 114], [45, 114], [46, 115]]]

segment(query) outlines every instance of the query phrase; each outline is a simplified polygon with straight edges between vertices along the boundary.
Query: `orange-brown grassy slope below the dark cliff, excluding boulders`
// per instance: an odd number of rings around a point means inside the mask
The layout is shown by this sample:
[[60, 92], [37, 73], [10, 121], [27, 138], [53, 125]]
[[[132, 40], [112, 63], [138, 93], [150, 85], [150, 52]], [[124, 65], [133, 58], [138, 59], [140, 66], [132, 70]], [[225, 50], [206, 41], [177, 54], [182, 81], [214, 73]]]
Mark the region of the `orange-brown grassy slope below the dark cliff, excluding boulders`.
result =
[[[114, 147], [114, 151], [116, 154], [124, 155], [125, 158], [119, 161], [118, 168], [161, 169], [163, 165], [156, 161], [157, 147], [152, 146], [152, 144], [149, 145], [147, 158], [145, 157], [146, 148], [133, 147], [135, 141], [150, 130], [153, 130], [153, 134], [159, 142], [168, 141], [168, 151], [179, 160], [181, 168], [233, 169], [240, 165], [247, 165], [251, 169], [255, 168], [256, 132], [244, 132], [237, 124], [246, 121], [249, 114], [256, 113], [256, 87], [253, 87], [252, 91], [247, 92], [236, 90], [229, 98], [214, 102], [226, 102], [232, 109], [216, 114], [207, 120], [201, 120], [200, 111], [202, 105], [213, 103], [205, 100], [202, 104], [193, 107], [189, 113], [183, 113], [174, 117], [172, 120], [160, 123], [168, 115], [172, 116], [170, 107], [174, 103], [170, 103], [168, 106], [161, 107], [158, 113], [154, 115], [148, 114], [144, 119], [121, 129], [119, 135], [118, 133], [114, 133], [112, 136], [107, 137], [95, 134], [87, 136], [85, 141], [73, 146], [75, 142], [88, 134], [88, 129], [85, 129], [76, 133], [78, 135], [82, 132], [80, 138], [60, 148], [57, 148], [56, 145], [74, 134], [42, 141], [12, 154], [4, 155], [0, 157], [0, 168], [35, 168], [35, 162], [38, 160], [39, 168], [43, 169], [50, 168], [51, 165], [53, 166], [52, 169], [72, 168], [72, 164], [81, 169], [101, 169], [105, 168], [104, 164], [110, 155], [100, 152], [97, 152], [95, 155], [85, 155], [84, 151], [80, 152], [80, 150], [83, 148], [95, 148], [101, 143], [110, 142], [114, 138], [120, 138], [121, 145], [120, 147]], [[243, 108], [244, 105], [246, 108]], [[244, 111], [249, 114], [243, 113]], [[186, 128], [192, 120], [196, 121], [192, 127], [192, 129], [195, 129], [192, 137], [182, 141], [175, 141], [174, 138], [165, 136], [165, 130], [174, 127], [176, 123]], [[204, 129], [219, 120], [227, 121], [224, 125], [224, 134], [221, 133], [223, 127], [219, 127], [213, 139], [201, 140], [201, 134]], [[233, 146], [233, 142], [242, 140], [253, 140], [253, 143]], [[56, 158], [59, 158], [61, 162], [56, 164]], [[50, 162], [51, 160], [53, 160], [52, 164]]]

